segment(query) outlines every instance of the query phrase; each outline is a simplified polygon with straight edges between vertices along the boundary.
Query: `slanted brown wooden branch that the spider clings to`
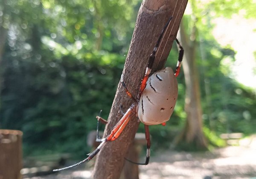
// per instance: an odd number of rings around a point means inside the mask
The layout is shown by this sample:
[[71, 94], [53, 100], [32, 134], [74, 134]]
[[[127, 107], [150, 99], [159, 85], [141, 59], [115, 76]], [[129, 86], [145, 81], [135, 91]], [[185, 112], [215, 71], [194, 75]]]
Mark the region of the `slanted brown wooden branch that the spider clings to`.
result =
[[[172, 17], [172, 21], [160, 44], [153, 64], [153, 71], [162, 69], [175, 40], [187, 4], [187, 0], [144, 0], [134, 29], [128, 55], [123, 70], [124, 82], [134, 97], [140, 88], [141, 79], [145, 73], [148, 57], [153, 51], [157, 39], [166, 22]], [[107, 136], [114, 125], [122, 117], [119, 109], [122, 105], [126, 110], [133, 101], [126, 95], [119, 82], [116, 95], [105, 127], [104, 137]], [[99, 152], [94, 171], [94, 179], [118, 179], [124, 165], [124, 157], [132, 143], [139, 122], [135, 116], [126, 126], [116, 141], [108, 142]]]

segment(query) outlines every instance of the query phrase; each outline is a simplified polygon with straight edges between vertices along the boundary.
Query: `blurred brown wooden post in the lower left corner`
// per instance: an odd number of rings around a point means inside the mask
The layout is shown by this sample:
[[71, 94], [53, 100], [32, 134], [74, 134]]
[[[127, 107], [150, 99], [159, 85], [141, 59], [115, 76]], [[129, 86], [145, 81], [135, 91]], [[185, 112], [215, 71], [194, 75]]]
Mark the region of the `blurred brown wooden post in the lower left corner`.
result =
[[22, 135], [19, 130], [0, 130], [0, 179], [21, 179]]

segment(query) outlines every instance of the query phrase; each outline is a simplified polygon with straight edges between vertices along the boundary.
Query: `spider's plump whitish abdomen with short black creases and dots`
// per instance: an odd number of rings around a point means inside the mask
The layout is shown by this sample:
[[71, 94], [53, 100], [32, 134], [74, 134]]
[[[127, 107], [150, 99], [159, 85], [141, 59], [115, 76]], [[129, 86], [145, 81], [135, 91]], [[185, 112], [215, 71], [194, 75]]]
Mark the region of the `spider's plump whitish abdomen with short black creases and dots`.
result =
[[177, 79], [170, 67], [154, 72], [148, 78], [138, 104], [138, 117], [143, 124], [157, 125], [169, 120], [178, 95]]

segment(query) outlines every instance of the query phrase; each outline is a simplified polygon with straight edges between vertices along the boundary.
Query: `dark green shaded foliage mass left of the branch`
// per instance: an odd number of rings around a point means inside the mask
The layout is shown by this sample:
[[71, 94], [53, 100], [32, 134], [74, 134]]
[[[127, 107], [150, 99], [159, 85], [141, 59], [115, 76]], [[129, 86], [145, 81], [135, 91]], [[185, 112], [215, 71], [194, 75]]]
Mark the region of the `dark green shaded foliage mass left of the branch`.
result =
[[[96, 127], [95, 116], [99, 110], [107, 117], [122, 72], [122, 64], [116, 63], [123, 58], [111, 54], [88, 56], [94, 61], [65, 56], [44, 65], [18, 61], [17, 68], [13, 68], [12, 60], [6, 61], [10, 67], [5, 69], [5, 79], [11, 85], [5, 84], [2, 91], [1, 124], [22, 130], [25, 144], [63, 152], [74, 148], [88, 152], [82, 142], [58, 147], [63, 141], [67, 144], [85, 141], [87, 133]], [[108, 56], [112, 57], [110, 64], [115, 67], [105, 64]]]

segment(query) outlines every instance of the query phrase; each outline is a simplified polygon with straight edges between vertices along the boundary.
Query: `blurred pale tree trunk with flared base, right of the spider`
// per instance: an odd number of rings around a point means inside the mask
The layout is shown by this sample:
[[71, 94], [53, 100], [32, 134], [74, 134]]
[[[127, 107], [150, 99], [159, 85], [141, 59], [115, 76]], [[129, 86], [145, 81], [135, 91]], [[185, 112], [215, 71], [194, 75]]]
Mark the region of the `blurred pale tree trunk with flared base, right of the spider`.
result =
[[207, 142], [203, 133], [202, 108], [200, 97], [200, 86], [198, 69], [195, 58], [195, 25], [192, 27], [190, 37], [187, 37], [183, 22], [180, 23], [180, 33], [178, 37], [184, 48], [183, 70], [186, 83], [185, 111], [187, 114], [186, 126], [176, 143], [186, 141], [187, 144], [195, 146], [197, 149], [206, 149]]

